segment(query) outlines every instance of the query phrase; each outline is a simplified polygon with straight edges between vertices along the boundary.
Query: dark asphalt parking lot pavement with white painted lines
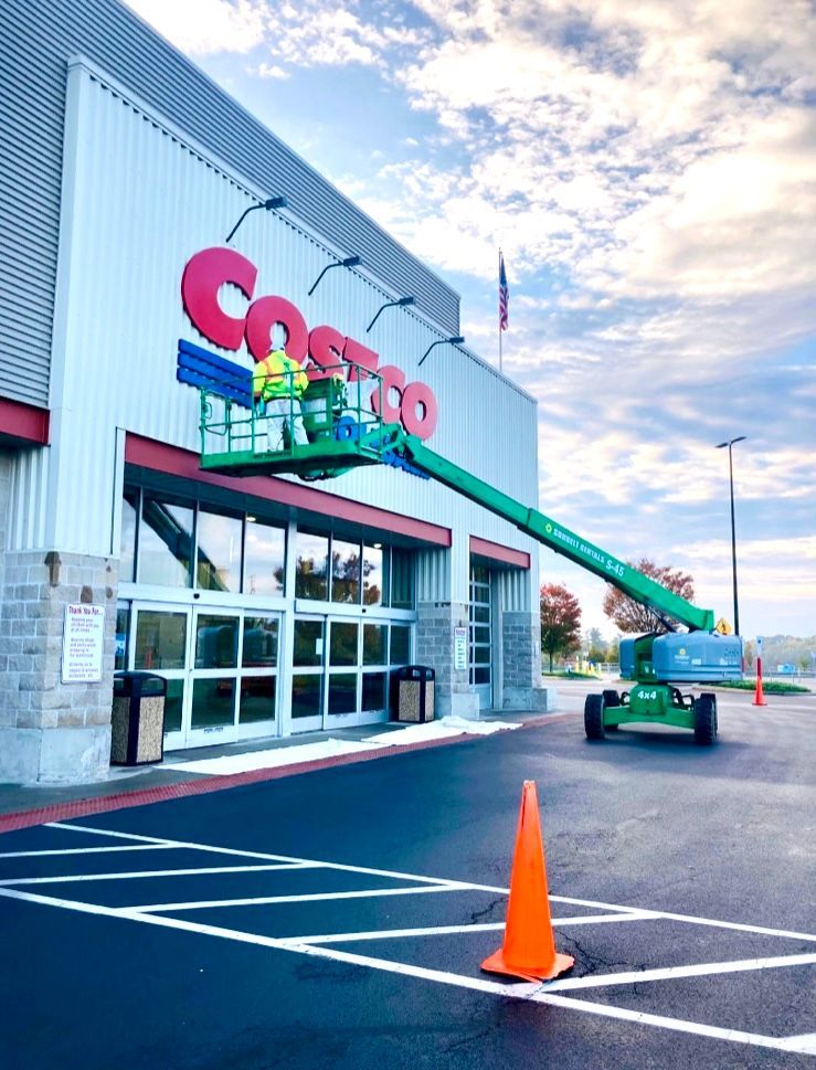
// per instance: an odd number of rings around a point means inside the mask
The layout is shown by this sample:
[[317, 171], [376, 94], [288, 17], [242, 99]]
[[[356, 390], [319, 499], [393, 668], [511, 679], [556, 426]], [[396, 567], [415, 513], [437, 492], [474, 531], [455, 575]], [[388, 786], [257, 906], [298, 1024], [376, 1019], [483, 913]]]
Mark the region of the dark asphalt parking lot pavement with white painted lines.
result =
[[[814, 1067], [816, 696], [574, 716], [0, 836], [6, 1070]], [[559, 951], [504, 940], [534, 780]]]

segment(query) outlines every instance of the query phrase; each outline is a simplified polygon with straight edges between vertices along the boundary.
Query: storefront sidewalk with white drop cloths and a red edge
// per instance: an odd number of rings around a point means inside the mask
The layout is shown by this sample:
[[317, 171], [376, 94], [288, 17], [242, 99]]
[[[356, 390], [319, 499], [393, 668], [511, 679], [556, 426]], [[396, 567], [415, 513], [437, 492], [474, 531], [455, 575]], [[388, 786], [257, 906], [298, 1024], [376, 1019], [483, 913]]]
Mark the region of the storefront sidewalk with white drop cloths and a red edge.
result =
[[[506, 713], [486, 710], [478, 721], [469, 722], [474, 725], [475, 734], [464, 734], [467, 731], [466, 724], [459, 727], [454, 723], [445, 730], [445, 722], [448, 720], [445, 718], [431, 721], [426, 725], [389, 721], [330, 732], [306, 732], [287, 739], [273, 738], [171, 751], [165, 754], [161, 764], [110, 766], [105, 780], [91, 784], [66, 787], [0, 784], [0, 833], [68, 817], [237, 787], [258, 781], [277, 780], [333, 765], [390, 758], [405, 751], [459, 743], [487, 734], [491, 723], [497, 728], [524, 728], [563, 716], [558, 712]], [[427, 731], [417, 733], [417, 729]], [[363, 742], [373, 737], [398, 737], [405, 730], [409, 733], [407, 739], [401, 739], [398, 743], [395, 738], [393, 745], [388, 740]], [[290, 754], [286, 754], [287, 751]], [[200, 769], [192, 767], [198, 763], [201, 763]]]

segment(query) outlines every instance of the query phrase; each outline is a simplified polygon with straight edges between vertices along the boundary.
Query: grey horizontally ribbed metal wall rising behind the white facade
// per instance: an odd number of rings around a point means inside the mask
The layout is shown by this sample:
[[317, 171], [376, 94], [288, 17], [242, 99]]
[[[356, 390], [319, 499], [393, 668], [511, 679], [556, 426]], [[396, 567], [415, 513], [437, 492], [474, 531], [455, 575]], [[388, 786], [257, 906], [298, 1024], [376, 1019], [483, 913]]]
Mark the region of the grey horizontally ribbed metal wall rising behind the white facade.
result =
[[[237, 168], [259, 194], [284, 193], [293, 212], [337, 251], [362, 256], [385, 286], [413, 294], [445, 331], [458, 332], [459, 301], [451, 287], [117, 0], [3, 0], [1, 394], [47, 403], [66, 60], [74, 53], [87, 55], [131, 86]], [[225, 234], [240, 214], [233, 212], [222, 205], [211, 223]]]

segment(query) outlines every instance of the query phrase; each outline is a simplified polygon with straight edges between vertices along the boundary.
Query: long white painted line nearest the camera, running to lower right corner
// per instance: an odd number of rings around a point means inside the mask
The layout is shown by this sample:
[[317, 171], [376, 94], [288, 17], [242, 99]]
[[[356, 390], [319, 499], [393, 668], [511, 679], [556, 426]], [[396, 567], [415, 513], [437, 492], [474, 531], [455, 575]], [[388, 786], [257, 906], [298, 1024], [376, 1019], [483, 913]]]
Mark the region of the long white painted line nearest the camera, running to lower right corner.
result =
[[687, 1032], [699, 1037], [709, 1037], [717, 1040], [746, 1043], [759, 1048], [772, 1048], [778, 1051], [794, 1051], [804, 1055], [812, 1053], [812, 1039], [809, 1034], [804, 1035], [803, 1037], [766, 1037], [761, 1034], [744, 1032], [739, 1029], [724, 1029], [719, 1026], [709, 1026], [703, 1025], [702, 1023], [688, 1021], [685, 1018], [669, 1018], [663, 1015], [646, 1014], [640, 1010], [629, 1010], [625, 1007], [613, 1007], [608, 1004], [590, 1003], [585, 999], [576, 999], [570, 996], [559, 996], [557, 994], [548, 993], [545, 987], [540, 985], [505, 985], [495, 981], [485, 981], [480, 977], [467, 977], [462, 974], [446, 973], [441, 970], [428, 970], [425, 966], [414, 966], [407, 963], [392, 962], [386, 958], [370, 958], [365, 955], [357, 955], [336, 949], [321, 947], [320, 945], [304, 943], [288, 944], [283, 940], [275, 939], [274, 936], [263, 936], [258, 933], [246, 933], [235, 929], [222, 929], [216, 925], [204, 925], [197, 922], [186, 921], [180, 918], [168, 918], [162, 914], [145, 914], [138, 909], [123, 911], [121, 909], [117, 910], [110, 907], [99, 907], [96, 903], [80, 903], [71, 900], [52, 899], [51, 897], [40, 896], [35, 892], [18, 891], [10, 888], [0, 889], [0, 897], [22, 899], [30, 902], [42, 903], [51, 907], [62, 907], [67, 910], [75, 910], [84, 913], [127, 919], [128, 921], [141, 922], [144, 924], [200, 933], [208, 936], [218, 936], [224, 940], [234, 940], [240, 943], [255, 944], [257, 946], [269, 947], [276, 951], [289, 951], [303, 955], [314, 955], [319, 958], [329, 958], [333, 962], [345, 962], [357, 966], [367, 966], [369, 968], [381, 970], [385, 973], [399, 974], [401, 976], [416, 977], [418, 979], [436, 982], [437, 984], [469, 988], [475, 992], [484, 992], [487, 994], [501, 996], [504, 998], [523, 999], [530, 1003], [561, 1007], [566, 1010], [579, 1010], [585, 1014], [600, 1015], [605, 1018], [614, 1018], [618, 1021], [629, 1021], [642, 1026], [653, 1026], [659, 1029], [669, 1029], [676, 1032]]

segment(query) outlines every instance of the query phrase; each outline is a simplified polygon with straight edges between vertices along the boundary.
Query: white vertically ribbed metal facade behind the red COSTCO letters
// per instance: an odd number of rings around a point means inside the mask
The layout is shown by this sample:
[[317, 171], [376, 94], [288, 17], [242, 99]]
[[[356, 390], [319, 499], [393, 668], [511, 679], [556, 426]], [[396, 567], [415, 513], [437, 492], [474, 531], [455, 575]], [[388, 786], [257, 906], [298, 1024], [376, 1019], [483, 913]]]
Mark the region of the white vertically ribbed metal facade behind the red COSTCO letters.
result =
[[[179, 338], [201, 339], [183, 311], [180, 278], [188, 258], [221, 244], [213, 219], [235, 220], [248, 203], [237, 174], [226, 173], [97, 68], [71, 74], [64, 218], [54, 337], [51, 485], [46, 539], [62, 549], [110, 550], [116, 428], [199, 448], [199, 396], [176, 381]], [[353, 271], [329, 272], [308, 290], [330, 254], [296, 220], [255, 212], [233, 245], [258, 267], [255, 296], [292, 300], [309, 327], [330, 324], [398, 364], [409, 381], [434, 390], [439, 422], [430, 445], [500, 489], [537, 501], [536, 405], [481, 361], [449, 346], [418, 360], [442, 336], [411, 309]], [[227, 288], [229, 289], [229, 288]], [[236, 290], [227, 311], [245, 310]], [[252, 358], [223, 356], [247, 367]], [[536, 544], [491, 513], [433, 481], [391, 469], [365, 469], [322, 485], [354, 500], [415, 516], [528, 552]], [[78, 496], [78, 498], [77, 498]], [[78, 500], [81, 499], [81, 501]], [[462, 570], [466, 576], [466, 563]], [[466, 600], [466, 591], [462, 595]]]

